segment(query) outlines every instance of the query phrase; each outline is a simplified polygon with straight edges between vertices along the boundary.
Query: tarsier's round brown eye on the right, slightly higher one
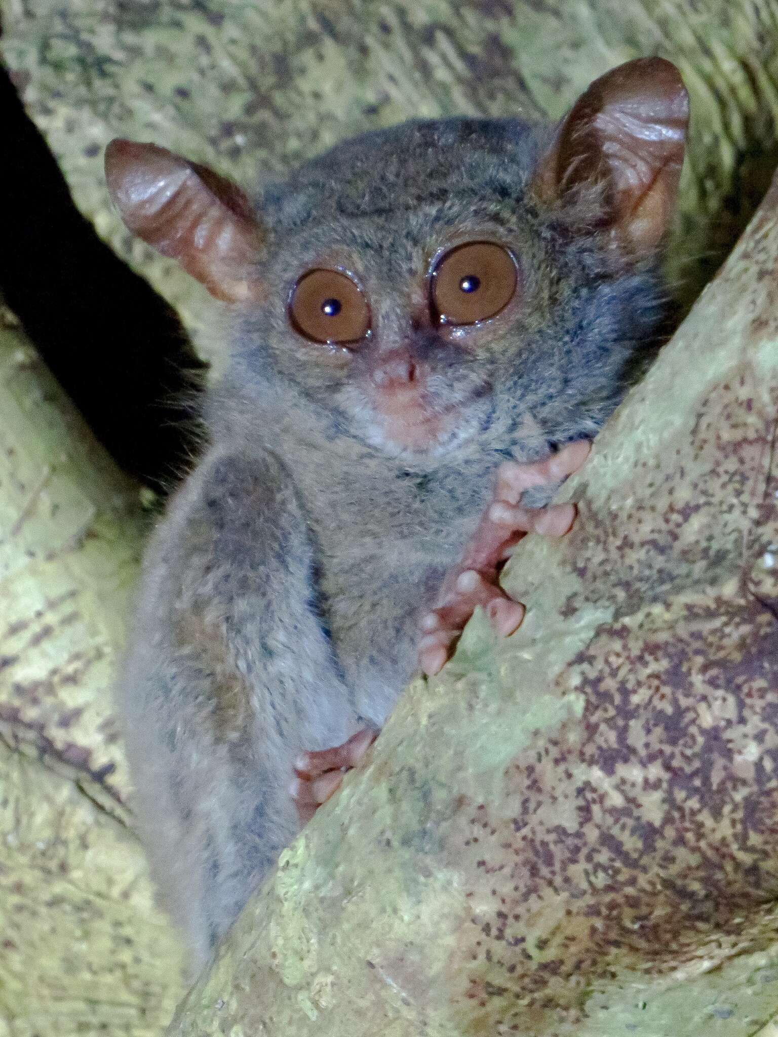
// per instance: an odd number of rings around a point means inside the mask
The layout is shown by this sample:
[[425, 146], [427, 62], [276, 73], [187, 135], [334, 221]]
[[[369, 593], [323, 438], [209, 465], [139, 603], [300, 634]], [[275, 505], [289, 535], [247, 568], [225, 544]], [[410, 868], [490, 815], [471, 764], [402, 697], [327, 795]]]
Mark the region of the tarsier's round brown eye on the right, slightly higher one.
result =
[[517, 281], [516, 260], [501, 245], [460, 245], [433, 271], [433, 315], [446, 325], [488, 320], [508, 305]]

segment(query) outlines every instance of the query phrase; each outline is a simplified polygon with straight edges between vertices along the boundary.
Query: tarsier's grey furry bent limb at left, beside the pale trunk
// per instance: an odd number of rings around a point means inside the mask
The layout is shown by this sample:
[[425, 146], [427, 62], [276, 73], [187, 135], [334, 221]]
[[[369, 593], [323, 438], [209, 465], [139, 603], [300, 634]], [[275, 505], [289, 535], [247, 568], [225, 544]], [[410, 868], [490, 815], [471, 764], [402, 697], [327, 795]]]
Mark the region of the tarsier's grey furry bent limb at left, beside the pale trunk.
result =
[[313, 561], [280, 466], [226, 455], [174, 501], [146, 563], [128, 752], [155, 878], [196, 964], [299, 831], [296, 756], [356, 729]]

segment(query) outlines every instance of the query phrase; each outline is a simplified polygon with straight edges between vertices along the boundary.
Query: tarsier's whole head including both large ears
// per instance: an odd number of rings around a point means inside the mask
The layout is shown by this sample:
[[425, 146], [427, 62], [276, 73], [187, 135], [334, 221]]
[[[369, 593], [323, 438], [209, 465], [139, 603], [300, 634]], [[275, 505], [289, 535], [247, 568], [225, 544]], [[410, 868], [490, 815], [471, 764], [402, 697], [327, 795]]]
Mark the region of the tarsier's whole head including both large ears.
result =
[[688, 109], [674, 66], [648, 58], [556, 127], [409, 122], [255, 205], [152, 144], [113, 141], [106, 170], [128, 226], [235, 304], [246, 382], [280, 376], [373, 449], [440, 455], [510, 446], [552, 409], [568, 436], [602, 420], [656, 329]]

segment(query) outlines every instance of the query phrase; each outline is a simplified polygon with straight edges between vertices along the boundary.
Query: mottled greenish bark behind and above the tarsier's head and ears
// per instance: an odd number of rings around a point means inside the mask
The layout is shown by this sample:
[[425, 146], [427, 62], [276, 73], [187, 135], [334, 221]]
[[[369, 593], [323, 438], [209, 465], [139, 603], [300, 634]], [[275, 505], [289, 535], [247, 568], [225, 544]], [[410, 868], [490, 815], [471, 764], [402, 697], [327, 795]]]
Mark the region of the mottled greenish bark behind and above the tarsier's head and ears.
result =
[[778, 0], [0, 0], [0, 12], [4, 60], [78, 205], [195, 328], [202, 289], [111, 209], [113, 136], [251, 188], [411, 116], [557, 118], [611, 66], [660, 54], [692, 97], [672, 264], [687, 298], [778, 161]]

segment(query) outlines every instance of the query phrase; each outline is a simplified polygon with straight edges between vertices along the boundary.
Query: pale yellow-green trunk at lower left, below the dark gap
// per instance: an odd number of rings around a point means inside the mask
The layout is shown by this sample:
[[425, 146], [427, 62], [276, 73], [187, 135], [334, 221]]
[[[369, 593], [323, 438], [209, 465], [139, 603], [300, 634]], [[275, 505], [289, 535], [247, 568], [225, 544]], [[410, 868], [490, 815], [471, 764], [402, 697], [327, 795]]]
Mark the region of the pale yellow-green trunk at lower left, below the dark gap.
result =
[[111, 717], [137, 501], [24, 338], [0, 330], [2, 1037], [151, 1037], [180, 989]]

